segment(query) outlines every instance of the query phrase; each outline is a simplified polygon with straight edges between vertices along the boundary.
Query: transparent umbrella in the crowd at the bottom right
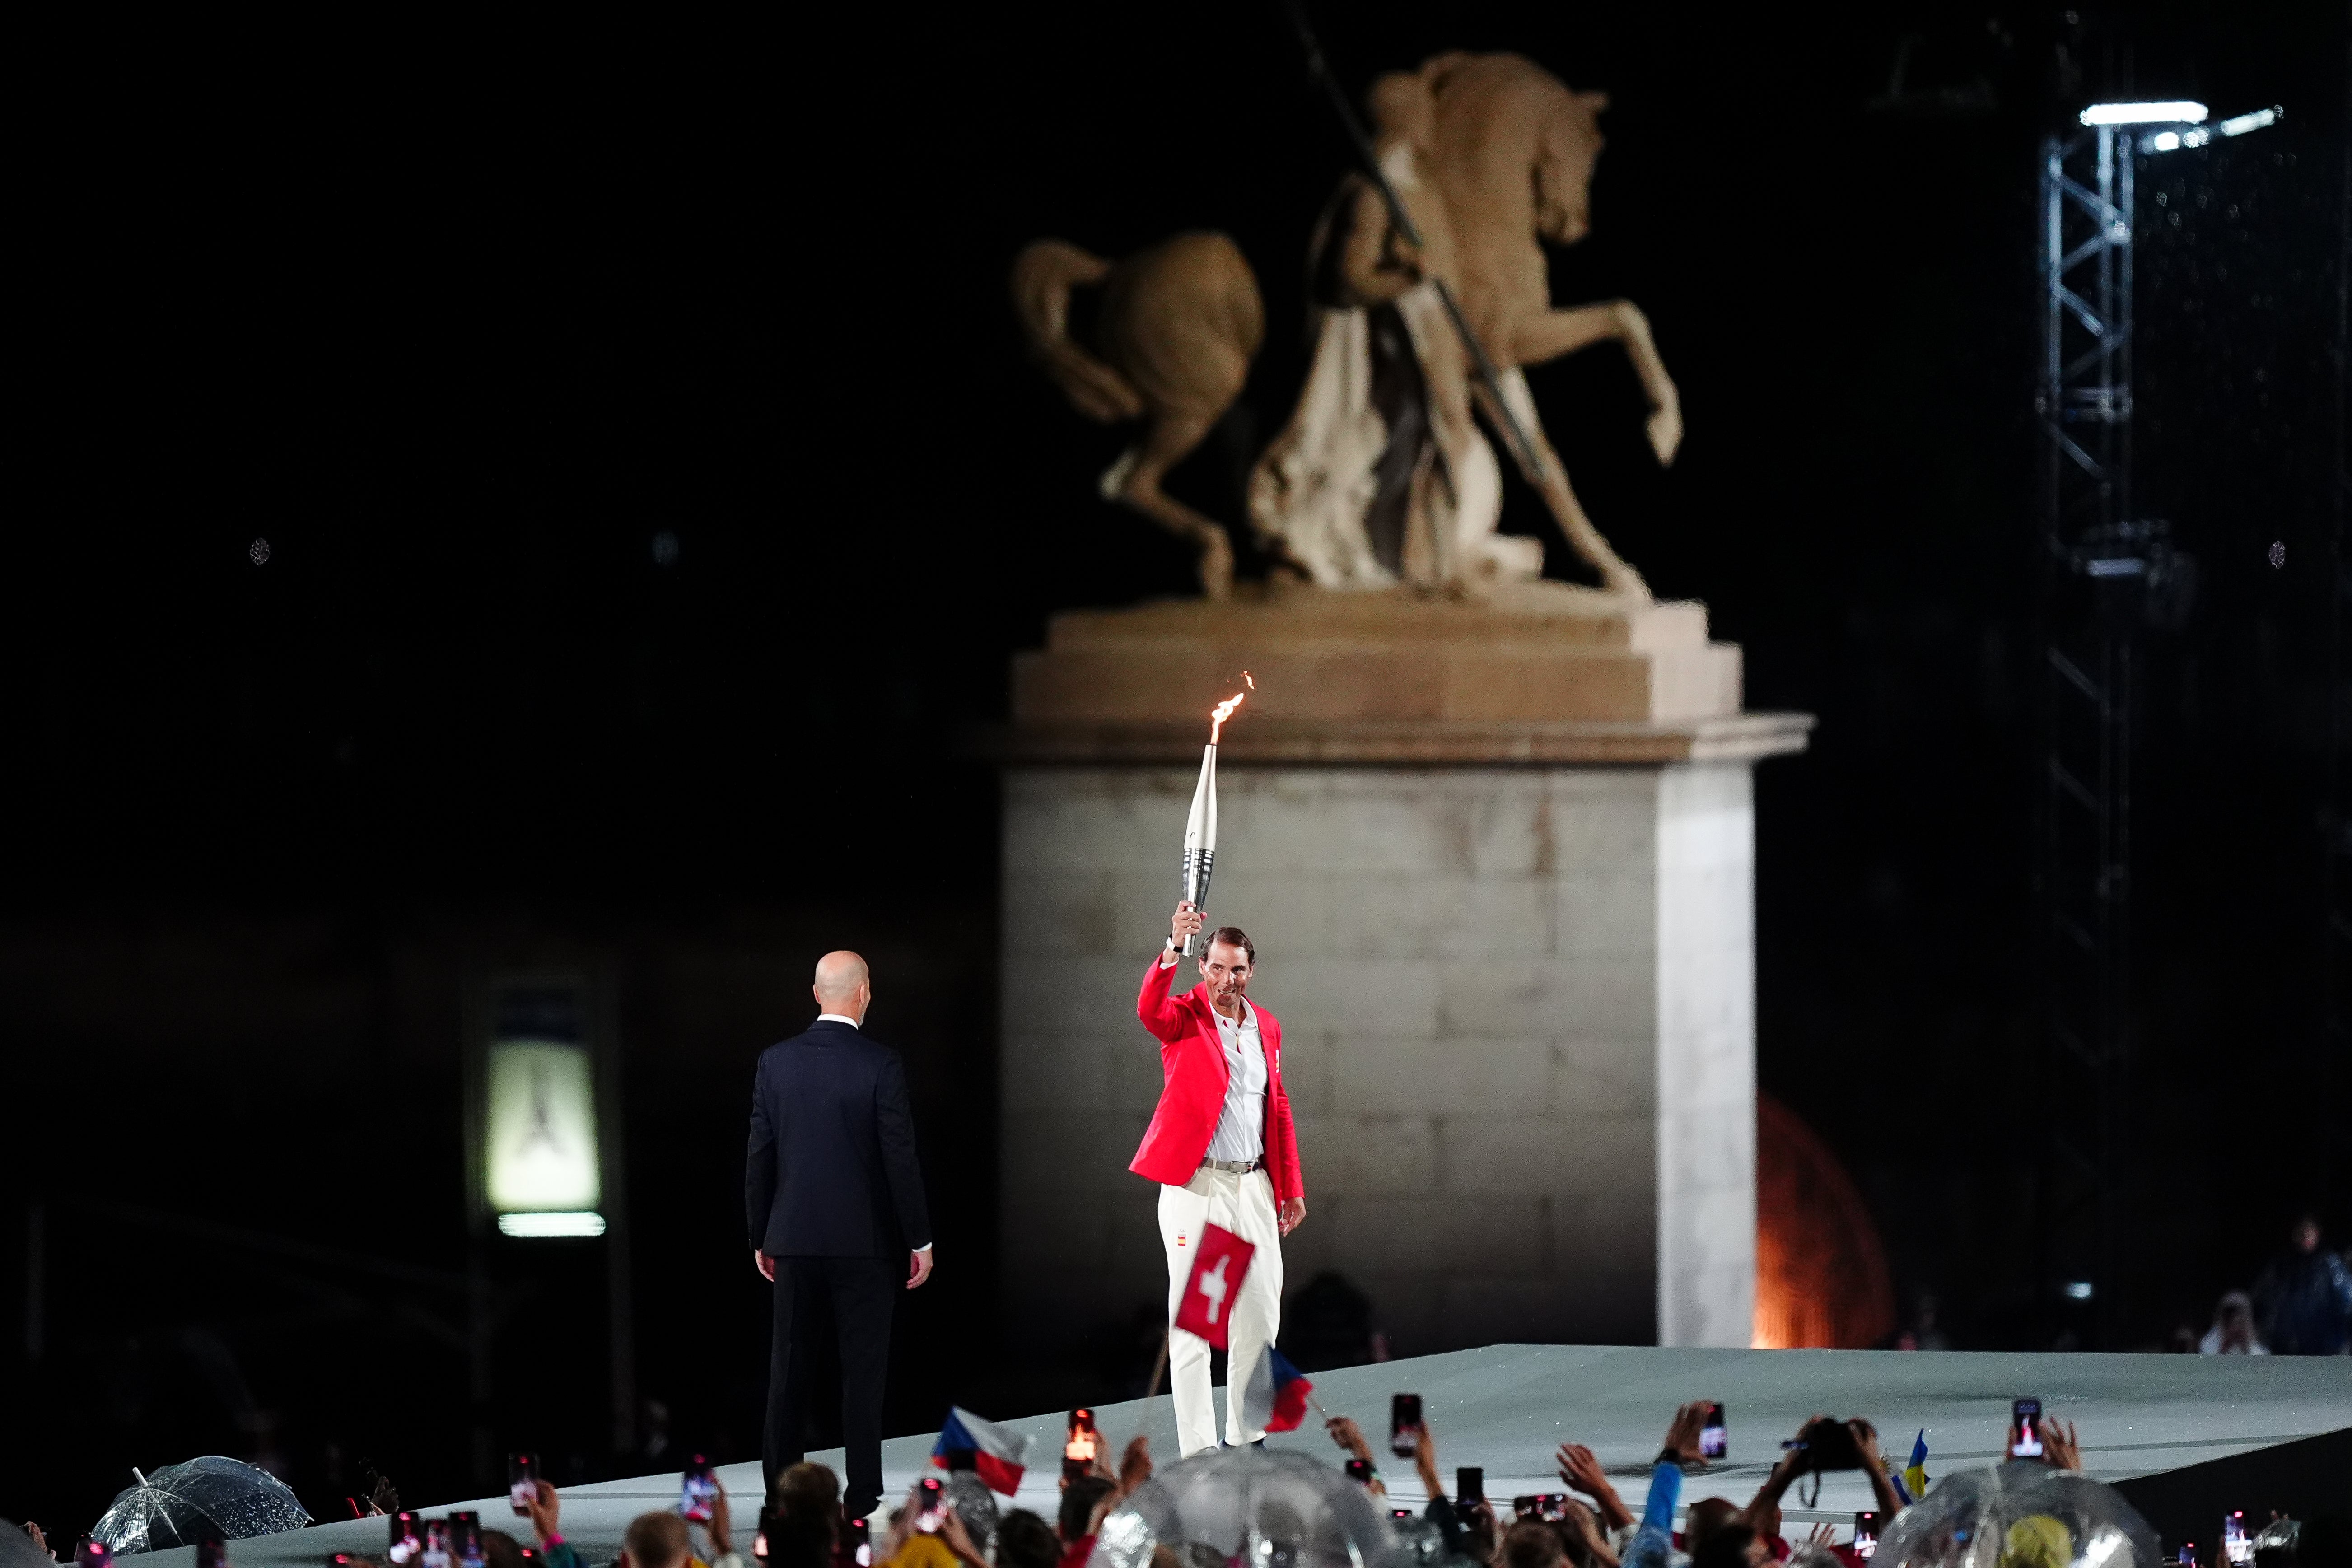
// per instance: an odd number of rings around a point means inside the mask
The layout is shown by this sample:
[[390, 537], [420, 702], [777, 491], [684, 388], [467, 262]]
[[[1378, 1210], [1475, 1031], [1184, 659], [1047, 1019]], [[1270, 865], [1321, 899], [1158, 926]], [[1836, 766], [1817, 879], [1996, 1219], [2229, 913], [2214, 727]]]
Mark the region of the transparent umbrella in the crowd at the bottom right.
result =
[[2016, 1462], [1945, 1476], [1886, 1526], [1870, 1568], [2157, 1568], [2164, 1552], [2105, 1481]]

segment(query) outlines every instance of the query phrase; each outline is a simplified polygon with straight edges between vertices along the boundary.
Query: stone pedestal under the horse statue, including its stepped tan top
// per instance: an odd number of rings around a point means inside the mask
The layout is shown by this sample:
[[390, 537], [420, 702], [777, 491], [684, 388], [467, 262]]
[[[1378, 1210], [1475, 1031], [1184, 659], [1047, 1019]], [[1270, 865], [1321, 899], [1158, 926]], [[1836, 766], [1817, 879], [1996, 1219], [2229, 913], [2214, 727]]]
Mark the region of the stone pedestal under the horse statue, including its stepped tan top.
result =
[[[1750, 766], [1696, 604], [1296, 595], [1063, 616], [1004, 762], [1002, 1279], [1040, 1338], [1164, 1293], [1127, 1161], [1160, 1093], [1134, 992], [1176, 900], [1207, 710], [1209, 917], [1258, 947], [1310, 1215], [1399, 1354], [1748, 1345]], [[1197, 978], [1183, 966], [1181, 985]]]

